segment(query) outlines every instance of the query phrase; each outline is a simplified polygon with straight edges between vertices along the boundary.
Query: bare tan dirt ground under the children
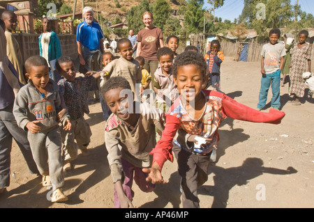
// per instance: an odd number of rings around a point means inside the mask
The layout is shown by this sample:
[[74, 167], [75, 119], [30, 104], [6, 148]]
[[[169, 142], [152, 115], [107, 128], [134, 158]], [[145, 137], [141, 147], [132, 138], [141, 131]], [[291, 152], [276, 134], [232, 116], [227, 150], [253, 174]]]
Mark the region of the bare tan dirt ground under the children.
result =
[[[221, 90], [238, 102], [256, 108], [260, 90], [260, 62], [222, 65]], [[209, 166], [209, 180], [199, 190], [200, 206], [209, 207], [314, 207], [314, 99], [301, 106], [287, 103], [288, 86], [281, 88], [280, 125], [244, 122], [227, 118], [220, 127], [217, 162]], [[269, 90], [269, 100], [271, 90]], [[269, 111], [270, 104], [267, 105]], [[93, 135], [90, 155], [79, 155], [75, 168], [65, 173], [66, 203], [51, 203], [41, 177], [31, 175], [20, 150], [13, 142], [11, 182], [0, 197], [0, 207], [112, 208], [113, 191], [100, 104], [90, 105], [85, 118]], [[133, 184], [133, 204], [142, 208], [181, 207], [177, 162], [163, 168], [167, 184], [144, 193]]]

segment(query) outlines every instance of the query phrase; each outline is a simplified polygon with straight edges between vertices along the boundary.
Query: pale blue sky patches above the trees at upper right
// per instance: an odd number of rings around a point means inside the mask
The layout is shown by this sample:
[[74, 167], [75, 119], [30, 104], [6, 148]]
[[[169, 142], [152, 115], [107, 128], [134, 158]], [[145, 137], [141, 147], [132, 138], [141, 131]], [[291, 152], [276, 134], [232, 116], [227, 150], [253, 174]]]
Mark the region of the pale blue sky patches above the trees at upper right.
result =
[[[207, 3], [207, 0], [204, 0], [204, 8], [209, 10], [211, 5]], [[297, 3], [297, 0], [291, 0], [291, 3], [294, 5]], [[314, 15], [314, 1], [313, 0], [299, 0], [299, 5], [301, 10], [306, 13], [311, 13]], [[242, 13], [244, 8], [244, 0], [225, 0], [223, 7], [216, 9], [215, 17], [221, 17], [223, 20], [228, 19], [231, 22], [234, 21], [234, 18], [238, 18]]]

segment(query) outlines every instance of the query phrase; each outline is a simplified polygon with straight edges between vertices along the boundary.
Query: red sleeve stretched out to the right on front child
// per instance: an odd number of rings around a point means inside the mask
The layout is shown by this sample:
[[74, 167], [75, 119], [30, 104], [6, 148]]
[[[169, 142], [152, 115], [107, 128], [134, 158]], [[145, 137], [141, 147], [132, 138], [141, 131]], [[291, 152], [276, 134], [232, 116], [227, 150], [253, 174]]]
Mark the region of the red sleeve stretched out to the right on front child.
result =
[[236, 120], [279, 124], [285, 116], [284, 112], [274, 108], [271, 108], [269, 113], [257, 111], [256, 109], [252, 109], [232, 100], [232, 98], [228, 96], [223, 97], [222, 104], [225, 115]]

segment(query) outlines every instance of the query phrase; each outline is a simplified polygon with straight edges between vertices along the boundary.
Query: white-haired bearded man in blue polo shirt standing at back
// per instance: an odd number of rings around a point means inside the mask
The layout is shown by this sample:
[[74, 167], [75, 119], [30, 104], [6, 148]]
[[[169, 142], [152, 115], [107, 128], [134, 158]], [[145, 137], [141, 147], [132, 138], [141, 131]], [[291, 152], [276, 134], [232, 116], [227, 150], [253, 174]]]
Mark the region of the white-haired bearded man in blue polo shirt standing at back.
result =
[[[105, 53], [103, 45], [103, 31], [94, 19], [93, 8], [87, 6], [83, 9], [84, 21], [78, 24], [76, 31], [77, 52], [80, 58], [79, 72], [102, 70], [101, 55]], [[99, 101], [98, 86], [89, 92], [89, 100]], [[91, 101], [92, 102], [92, 101]]]

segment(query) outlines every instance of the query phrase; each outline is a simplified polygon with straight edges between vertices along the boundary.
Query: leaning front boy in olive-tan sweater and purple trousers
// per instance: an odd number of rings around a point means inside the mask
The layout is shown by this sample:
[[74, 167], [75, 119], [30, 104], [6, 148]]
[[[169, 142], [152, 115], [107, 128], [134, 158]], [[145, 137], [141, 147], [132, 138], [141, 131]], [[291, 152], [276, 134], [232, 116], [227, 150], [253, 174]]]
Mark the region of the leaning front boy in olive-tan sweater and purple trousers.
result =
[[164, 113], [147, 102], [135, 102], [130, 84], [124, 77], [111, 77], [100, 86], [100, 93], [112, 114], [105, 125], [114, 183], [114, 207], [133, 207], [133, 180], [144, 192], [154, 191], [155, 184], [146, 181], [142, 168], [151, 166], [149, 152], [156, 145], [155, 127], [164, 128]]

